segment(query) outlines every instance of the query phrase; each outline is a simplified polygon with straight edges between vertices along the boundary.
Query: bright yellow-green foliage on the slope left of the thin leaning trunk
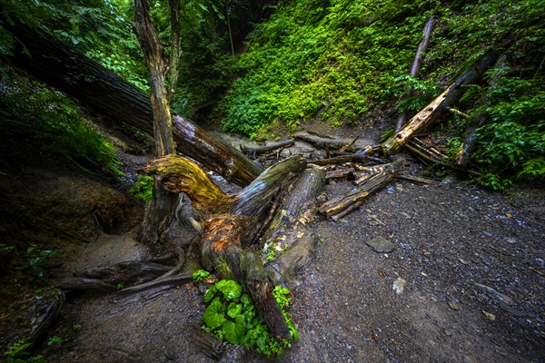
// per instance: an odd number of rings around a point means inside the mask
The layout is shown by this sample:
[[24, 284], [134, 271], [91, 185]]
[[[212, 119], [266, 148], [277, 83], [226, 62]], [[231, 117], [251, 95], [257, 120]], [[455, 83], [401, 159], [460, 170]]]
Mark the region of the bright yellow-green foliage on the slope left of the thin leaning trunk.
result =
[[[333, 126], [357, 122], [410, 81], [400, 77], [410, 66], [428, 3], [338, 0], [327, 6], [307, 0], [277, 6], [234, 65], [240, 77], [222, 104], [224, 129], [252, 134], [280, 119], [293, 130], [312, 117]], [[406, 108], [425, 102], [435, 86], [412, 83], [419, 98], [405, 101], [411, 103]]]

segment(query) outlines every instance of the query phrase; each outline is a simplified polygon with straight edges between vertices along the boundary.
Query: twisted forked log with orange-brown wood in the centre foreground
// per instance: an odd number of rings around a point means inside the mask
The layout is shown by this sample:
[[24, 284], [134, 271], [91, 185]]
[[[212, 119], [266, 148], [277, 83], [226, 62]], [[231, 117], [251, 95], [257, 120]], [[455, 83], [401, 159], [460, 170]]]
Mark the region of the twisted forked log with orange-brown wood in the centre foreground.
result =
[[138, 171], [158, 175], [169, 191], [187, 194], [202, 220], [204, 268], [238, 280], [250, 291], [260, 318], [277, 338], [289, 338], [290, 332], [272, 296], [274, 286], [260, 257], [243, 246], [257, 241], [263, 224], [271, 220], [272, 201], [305, 167], [302, 156], [293, 156], [265, 170], [236, 195], [225, 194], [197, 164], [180, 156], [155, 159]]

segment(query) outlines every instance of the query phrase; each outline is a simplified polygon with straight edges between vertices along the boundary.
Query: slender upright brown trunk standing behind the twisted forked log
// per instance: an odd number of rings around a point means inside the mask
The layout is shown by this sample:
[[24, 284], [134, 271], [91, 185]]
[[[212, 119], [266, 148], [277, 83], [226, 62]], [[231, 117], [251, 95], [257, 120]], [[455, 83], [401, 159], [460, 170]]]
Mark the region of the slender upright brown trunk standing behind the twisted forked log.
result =
[[[164, 48], [149, 16], [146, 0], [134, 0], [134, 34], [144, 52], [150, 78], [151, 103], [154, 113], [154, 139], [157, 156], [176, 152], [173, 139], [173, 122], [168, 105], [168, 93], [164, 78], [168, 67], [164, 60]], [[136, 239], [155, 244], [162, 240], [163, 232], [173, 220], [179, 203], [177, 193], [166, 191], [155, 178], [154, 198], [145, 209], [144, 221]]]

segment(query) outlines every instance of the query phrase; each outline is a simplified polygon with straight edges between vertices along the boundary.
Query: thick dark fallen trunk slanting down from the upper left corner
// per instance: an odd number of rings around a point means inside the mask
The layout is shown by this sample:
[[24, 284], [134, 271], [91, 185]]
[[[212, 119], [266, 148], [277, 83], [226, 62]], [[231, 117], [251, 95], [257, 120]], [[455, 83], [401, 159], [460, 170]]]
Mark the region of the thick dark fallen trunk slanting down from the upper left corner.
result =
[[[5, 22], [3, 26], [25, 44], [15, 46], [14, 55], [9, 57], [15, 65], [96, 112], [153, 134], [153, 111], [148, 94], [92, 59], [77, 54], [53, 36], [40, 34], [14, 21], [14, 25]], [[173, 133], [179, 152], [222, 174], [230, 182], [246, 186], [263, 172], [261, 166], [242, 152], [214, 139], [182, 116], [173, 115]]]

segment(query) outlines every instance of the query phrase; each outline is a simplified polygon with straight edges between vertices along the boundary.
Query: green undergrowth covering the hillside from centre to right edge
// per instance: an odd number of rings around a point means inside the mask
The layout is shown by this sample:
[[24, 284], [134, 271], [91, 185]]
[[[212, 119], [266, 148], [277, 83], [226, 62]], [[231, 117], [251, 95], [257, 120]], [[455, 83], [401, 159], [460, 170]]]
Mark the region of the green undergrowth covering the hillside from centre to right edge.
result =
[[[506, 49], [507, 65], [499, 64], [486, 80], [501, 76], [472, 88], [459, 106], [487, 118], [477, 132], [473, 162], [487, 174], [481, 182], [493, 189], [540, 179], [545, 41], [539, 3], [280, 2], [270, 20], [256, 25], [248, 52], [233, 65], [238, 77], [219, 108], [223, 128], [252, 136], [277, 121], [292, 130], [317, 118], [332, 126], [358, 123], [374, 107], [415, 113], [494, 46]], [[437, 22], [415, 79], [407, 74], [431, 15]], [[414, 95], [400, 99], [408, 86]], [[450, 120], [443, 129], [461, 139], [467, 123]]]

